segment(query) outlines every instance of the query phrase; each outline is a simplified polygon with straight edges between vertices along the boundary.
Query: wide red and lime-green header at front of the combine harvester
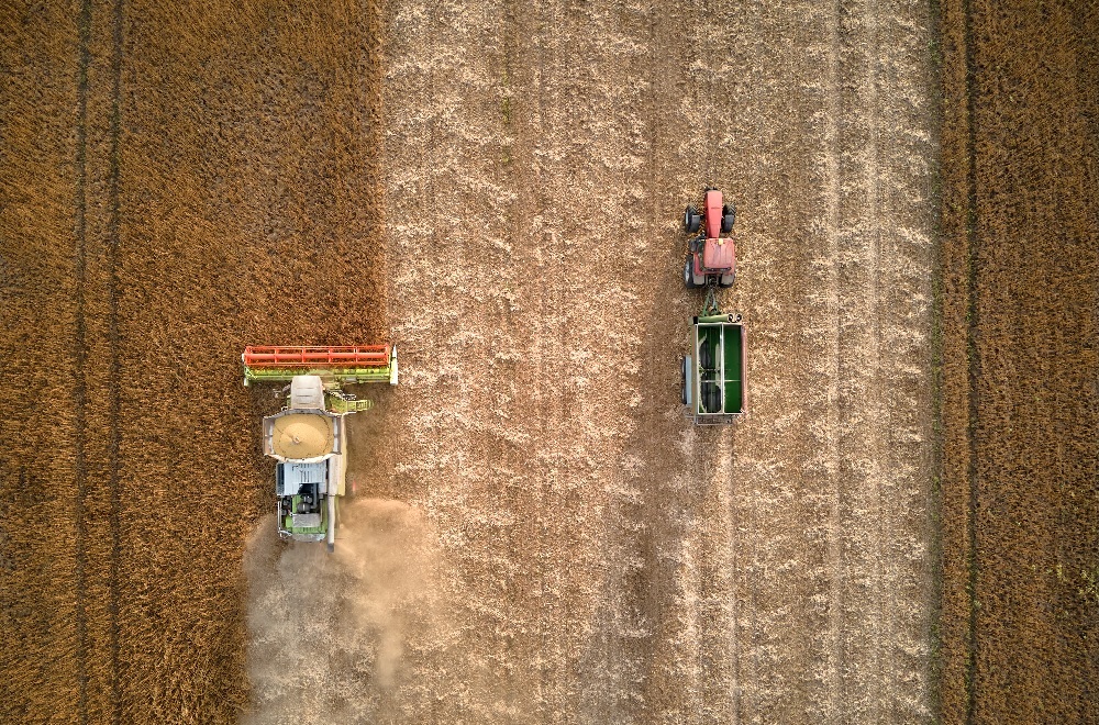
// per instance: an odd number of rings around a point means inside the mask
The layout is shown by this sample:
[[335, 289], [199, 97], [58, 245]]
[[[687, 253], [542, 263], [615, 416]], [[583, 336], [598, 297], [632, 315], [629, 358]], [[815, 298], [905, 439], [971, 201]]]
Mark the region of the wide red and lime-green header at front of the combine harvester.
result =
[[335, 384], [397, 384], [397, 348], [391, 345], [248, 346], [241, 355], [244, 384], [290, 382], [315, 375]]

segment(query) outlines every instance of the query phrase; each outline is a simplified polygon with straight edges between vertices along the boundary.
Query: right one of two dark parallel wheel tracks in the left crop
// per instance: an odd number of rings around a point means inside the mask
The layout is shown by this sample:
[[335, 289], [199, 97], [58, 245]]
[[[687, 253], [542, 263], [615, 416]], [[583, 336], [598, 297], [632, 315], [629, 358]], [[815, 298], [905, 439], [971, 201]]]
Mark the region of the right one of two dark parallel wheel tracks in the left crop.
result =
[[122, 548], [121, 497], [119, 495], [120, 449], [122, 446], [122, 384], [121, 365], [119, 361], [119, 126], [121, 124], [121, 85], [122, 85], [122, 0], [114, 1], [112, 18], [112, 56], [111, 56], [111, 116], [110, 116], [110, 158], [108, 161], [108, 265], [110, 267], [110, 315], [109, 343], [111, 346], [111, 368], [109, 373], [111, 437], [108, 448], [108, 466], [110, 469], [110, 521], [111, 521], [111, 703], [113, 705], [112, 721], [115, 725], [122, 722], [122, 702], [119, 673], [119, 567]]

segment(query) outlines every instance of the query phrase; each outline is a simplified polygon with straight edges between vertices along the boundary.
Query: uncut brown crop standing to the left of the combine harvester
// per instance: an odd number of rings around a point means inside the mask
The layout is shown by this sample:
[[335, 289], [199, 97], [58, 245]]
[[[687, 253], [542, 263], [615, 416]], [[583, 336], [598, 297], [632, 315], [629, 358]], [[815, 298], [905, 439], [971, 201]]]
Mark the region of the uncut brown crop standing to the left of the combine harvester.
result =
[[2, 23], [0, 720], [231, 722], [274, 405], [240, 352], [385, 334], [376, 11]]

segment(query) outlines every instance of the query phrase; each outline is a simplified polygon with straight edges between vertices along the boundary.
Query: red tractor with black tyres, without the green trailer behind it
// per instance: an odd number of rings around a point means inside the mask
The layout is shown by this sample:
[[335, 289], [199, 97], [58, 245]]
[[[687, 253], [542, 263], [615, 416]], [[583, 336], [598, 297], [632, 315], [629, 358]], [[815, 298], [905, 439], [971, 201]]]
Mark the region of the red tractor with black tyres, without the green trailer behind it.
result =
[[684, 212], [684, 231], [697, 234], [688, 242], [690, 253], [684, 264], [684, 282], [690, 288], [714, 282], [718, 287], [732, 287], [736, 278], [736, 245], [732, 234], [736, 208], [723, 203], [720, 191], [708, 188], [702, 196], [702, 210], [706, 228], [701, 228], [702, 215], [695, 207]]

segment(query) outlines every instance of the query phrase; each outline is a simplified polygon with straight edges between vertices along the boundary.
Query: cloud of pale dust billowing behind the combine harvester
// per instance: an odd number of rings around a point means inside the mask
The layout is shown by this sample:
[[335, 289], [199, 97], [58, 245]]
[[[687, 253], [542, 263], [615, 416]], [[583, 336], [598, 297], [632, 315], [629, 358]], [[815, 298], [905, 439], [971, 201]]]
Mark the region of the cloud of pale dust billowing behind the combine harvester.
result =
[[249, 542], [245, 723], [391, 714], [409, 638], [431, 639], [439, 626], [435, 537], [422, 513], [382, 499], [345, 503], [343, 513], [335, 554], [280, 543], [273, 516]]

